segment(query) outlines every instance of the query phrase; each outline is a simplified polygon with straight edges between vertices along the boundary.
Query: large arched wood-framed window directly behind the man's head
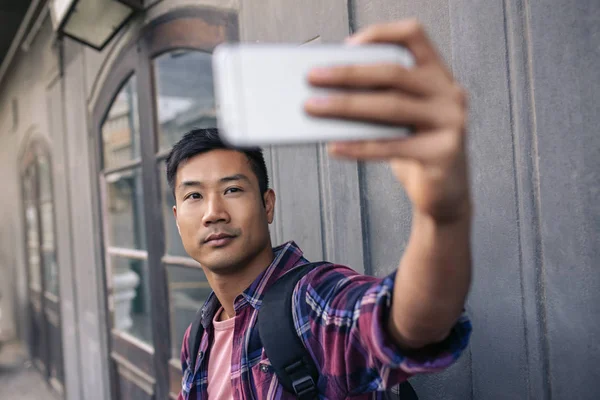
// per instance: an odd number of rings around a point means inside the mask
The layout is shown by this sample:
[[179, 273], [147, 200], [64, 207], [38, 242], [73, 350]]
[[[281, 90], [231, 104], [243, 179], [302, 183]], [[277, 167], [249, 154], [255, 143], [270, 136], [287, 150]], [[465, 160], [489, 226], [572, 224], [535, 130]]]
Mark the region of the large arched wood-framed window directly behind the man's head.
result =
[[186, 131], [215, 126], [211, 52], [237, 39], [235, 14], [171, 12], [122, 50], [94, 107], [119, 399], [166, 399], [181, 387], [183, 334], [210, 288], [182, 247], [164, 160]]

